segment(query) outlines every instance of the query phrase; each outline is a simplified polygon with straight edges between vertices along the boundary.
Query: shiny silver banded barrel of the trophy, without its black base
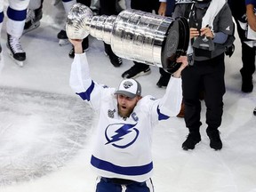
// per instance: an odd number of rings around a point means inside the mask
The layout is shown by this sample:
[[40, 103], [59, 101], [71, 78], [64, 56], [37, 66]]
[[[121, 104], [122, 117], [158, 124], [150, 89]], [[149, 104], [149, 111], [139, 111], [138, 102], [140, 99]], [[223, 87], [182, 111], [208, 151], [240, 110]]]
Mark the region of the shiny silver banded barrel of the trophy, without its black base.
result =
[[111, 48], [119, 57], [162, 68], [161, 54], [172, 18], [125, 10], [117, 15]]

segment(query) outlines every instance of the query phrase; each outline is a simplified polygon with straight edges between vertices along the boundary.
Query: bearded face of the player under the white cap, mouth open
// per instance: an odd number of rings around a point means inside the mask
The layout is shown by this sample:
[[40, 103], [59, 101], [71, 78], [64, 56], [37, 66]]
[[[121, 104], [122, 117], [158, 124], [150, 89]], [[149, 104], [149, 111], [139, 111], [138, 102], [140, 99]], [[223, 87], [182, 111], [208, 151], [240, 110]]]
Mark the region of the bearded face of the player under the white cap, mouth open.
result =
[[117, 107], [118, 114], [122, 117], [128, 117], [132, 114], [133, 108], [135, 108], [137, 102], [140, 100], [140, 96], [129, 98], [123, 94], [117, 95]]

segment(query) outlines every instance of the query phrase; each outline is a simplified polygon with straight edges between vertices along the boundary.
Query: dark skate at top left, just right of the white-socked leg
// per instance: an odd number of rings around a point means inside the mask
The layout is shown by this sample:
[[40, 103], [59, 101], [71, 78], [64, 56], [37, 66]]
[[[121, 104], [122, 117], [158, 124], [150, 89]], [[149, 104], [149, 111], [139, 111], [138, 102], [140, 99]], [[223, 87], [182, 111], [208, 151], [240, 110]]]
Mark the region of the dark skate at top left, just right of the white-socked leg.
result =
[[23, 30], [23, 34], [28, 33], [29, 31], [38, 28], [40, 26], [40, 20], [43, 17], [42, 8], [31, 10], [28, 9], [27, 18]]

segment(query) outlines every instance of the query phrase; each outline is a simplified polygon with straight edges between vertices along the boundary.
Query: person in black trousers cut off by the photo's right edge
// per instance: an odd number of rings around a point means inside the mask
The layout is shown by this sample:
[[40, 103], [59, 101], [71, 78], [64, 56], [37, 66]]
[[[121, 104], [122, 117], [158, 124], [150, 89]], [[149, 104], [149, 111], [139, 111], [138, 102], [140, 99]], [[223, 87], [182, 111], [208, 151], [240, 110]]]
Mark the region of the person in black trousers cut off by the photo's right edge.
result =
[[[252, 75], [255, 72], [256, 35], [248, 37], [248, 27], [256, 33], [255, 0], [228, 0], [232, 15], [236, 21], [236, 29], [242, 44], [242, 92], [252, 92]], [[251, 38], [251, 39], [250, 39]]]

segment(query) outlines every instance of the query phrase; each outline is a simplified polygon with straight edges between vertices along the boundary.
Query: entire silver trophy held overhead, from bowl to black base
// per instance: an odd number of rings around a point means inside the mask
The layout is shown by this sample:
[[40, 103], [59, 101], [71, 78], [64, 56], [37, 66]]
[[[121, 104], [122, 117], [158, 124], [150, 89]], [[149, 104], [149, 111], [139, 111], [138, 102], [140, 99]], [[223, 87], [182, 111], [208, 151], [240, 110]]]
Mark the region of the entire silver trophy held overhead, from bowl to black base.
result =
[[184, 18], [137, 10], [93, 16], [84, 4], [74, 4], [66, 30], [70, 39], [84, 39], [90, 34], [110, 44], [121, 58], [164, 68], [171, 74], [180, 68], [176, 59], [186, 54], [189, 41], [188, 21]]

